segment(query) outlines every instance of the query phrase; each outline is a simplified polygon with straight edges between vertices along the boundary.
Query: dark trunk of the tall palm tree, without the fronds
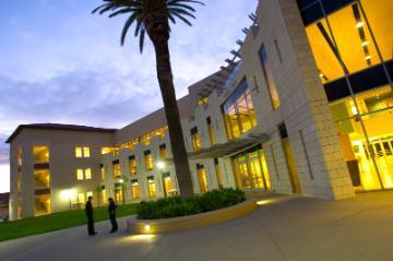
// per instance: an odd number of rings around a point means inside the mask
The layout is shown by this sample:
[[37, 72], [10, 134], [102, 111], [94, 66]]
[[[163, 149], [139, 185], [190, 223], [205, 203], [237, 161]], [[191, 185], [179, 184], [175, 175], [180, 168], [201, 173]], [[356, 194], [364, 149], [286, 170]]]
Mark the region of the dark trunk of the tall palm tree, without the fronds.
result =
[[174, 154], [176, 176], [178, 177], [179, 182], [180, 197], [189, 198], [193, 195], [193, 189], [179, 108], [176, 100], [168, 40], [160, 37], [157, 40], [154, 40], [153, 44], [156, 54], [157, 78], [169, 129], [169, 139]]

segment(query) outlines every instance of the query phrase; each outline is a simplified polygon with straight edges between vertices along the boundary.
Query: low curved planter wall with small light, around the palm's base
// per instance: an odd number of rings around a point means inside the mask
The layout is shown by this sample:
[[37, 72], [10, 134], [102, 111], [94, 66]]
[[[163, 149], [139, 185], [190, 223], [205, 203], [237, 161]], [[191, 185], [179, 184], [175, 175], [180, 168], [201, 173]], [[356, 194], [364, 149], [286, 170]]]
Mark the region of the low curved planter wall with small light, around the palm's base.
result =
[[136, 217], [127, 221], [129, 234], [165, 234], [227, 222], [247, 215], [257, 209], [255, 200], [247, 200], [226, 209], [165, 220], [144, 221]]

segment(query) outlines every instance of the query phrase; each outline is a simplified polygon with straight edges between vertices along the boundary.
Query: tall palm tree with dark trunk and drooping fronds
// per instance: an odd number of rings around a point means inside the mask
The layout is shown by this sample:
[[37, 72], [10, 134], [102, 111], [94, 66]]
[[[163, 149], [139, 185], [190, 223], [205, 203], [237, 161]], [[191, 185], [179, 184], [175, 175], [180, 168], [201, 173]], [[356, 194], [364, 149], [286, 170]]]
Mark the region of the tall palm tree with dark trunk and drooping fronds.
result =
[[93, 10], [92, 13], [98, 12], [104, 14], [109, 12], [109, 17], [121, 14], [128, 15], [121, 33], [121, 45], [124, 45], [126, 36], [131, 25], [135, 25], [134, 36], [139, 37], [141, 52], [143, 51], [146, 34], [153, 41], [157, 63], [157, 78], [169, 129], [180, 194], [182, 198], [191, 197], [193, 194], [191, 173], [170, 64], [168, 46], [170, 37], [169, 21], [175, 24], [176, 20], [180, 20], [191, 26], [189, 19], [195, 19], [193, 15], [195, 10], [191, 4], [203, 3], [194, 0], [104, 0], [104, 4]]

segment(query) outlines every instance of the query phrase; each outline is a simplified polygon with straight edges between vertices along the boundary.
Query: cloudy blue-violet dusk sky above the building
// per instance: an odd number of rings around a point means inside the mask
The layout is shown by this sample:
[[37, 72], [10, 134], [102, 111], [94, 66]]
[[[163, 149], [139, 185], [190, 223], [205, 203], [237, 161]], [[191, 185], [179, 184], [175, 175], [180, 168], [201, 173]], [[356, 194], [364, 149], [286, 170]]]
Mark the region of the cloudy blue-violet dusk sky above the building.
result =
[[[0, 9], [0, 192], [9, 191], [9, 146], [23, 123], [121, 128], [162, 106], [150, 41], [140, 55], [123, 17], [92, 15], [102, 0], [4, 0]], [[193, 27], [174, 27], [178, 97], [218, 70], [251, 24], [257, 0], [209, 0]]]

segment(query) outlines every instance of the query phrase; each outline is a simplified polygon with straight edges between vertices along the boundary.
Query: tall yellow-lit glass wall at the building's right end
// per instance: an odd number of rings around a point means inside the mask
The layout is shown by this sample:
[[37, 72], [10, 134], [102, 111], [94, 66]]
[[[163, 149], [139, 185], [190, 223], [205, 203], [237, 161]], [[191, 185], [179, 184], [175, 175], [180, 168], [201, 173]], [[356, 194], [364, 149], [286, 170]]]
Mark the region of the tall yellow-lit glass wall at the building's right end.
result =
[[306, 28], [357, 190], [393, 188], [392, 13], [353, 1]]

